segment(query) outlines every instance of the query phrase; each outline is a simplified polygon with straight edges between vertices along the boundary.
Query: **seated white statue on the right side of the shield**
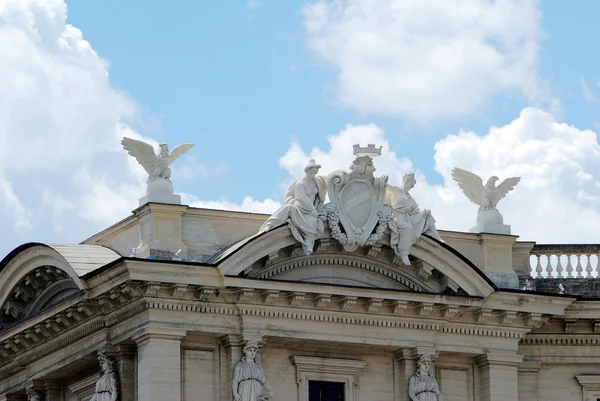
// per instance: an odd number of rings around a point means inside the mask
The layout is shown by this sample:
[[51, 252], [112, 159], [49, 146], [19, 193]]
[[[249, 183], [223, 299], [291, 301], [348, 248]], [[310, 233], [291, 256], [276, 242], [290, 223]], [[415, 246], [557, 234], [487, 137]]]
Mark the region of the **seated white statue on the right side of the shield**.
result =
[[406, 265], [410, 265], [410, 248], [421, 234], [428, 234], [444, 242], [435, 227], [431, 211], [421, 210], [410, 194], [416, 183], [414, 173], [408, 173], [402, 178], [402, 187], [388, 185], [386, 192], [386, 202], [392, 206], [394, 213], [394, 220], [389, 225], [390, 245]]

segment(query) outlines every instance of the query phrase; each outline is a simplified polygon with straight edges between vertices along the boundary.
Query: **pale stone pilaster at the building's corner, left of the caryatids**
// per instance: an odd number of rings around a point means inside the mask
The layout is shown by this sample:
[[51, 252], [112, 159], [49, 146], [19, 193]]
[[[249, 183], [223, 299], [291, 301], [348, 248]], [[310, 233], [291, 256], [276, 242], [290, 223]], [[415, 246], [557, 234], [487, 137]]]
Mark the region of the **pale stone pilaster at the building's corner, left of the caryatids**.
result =
[[144, 329], [137, 343], [137, 397], [181, 400], [181, 339], [184, 331]]

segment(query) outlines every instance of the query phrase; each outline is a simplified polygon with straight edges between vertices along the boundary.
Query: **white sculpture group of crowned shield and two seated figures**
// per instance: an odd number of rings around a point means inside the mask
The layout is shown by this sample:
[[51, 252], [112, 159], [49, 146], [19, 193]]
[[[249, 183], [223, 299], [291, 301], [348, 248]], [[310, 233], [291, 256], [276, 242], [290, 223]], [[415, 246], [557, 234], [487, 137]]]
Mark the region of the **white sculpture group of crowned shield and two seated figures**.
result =
[[[414, 174], [404, 176], [401, 188], [388, 186], [387, 175], [375, 177], [373, 158], [380, 156], [381, 150], [373, 144], [354, 145], [355, 159], [349, 171], [337, 170], [326, 178], [317, 175], [321, 166], [311, 159], [304, 168], [305, 176], [294, 181], [285, 204], [265, 221], [260, 232], [287, 224], [309, 254], [315, 240], [324, 236], [325, 222], [331, 237], [348, 252], [376, 245], [389, 229], [395, 260], [410, 265], [411, 246], [421, 234], [441, 238], [431, 212], [419, 209], [409, 193], [416, 184]], [[325, 193], [329, 203], [324, 203]]]

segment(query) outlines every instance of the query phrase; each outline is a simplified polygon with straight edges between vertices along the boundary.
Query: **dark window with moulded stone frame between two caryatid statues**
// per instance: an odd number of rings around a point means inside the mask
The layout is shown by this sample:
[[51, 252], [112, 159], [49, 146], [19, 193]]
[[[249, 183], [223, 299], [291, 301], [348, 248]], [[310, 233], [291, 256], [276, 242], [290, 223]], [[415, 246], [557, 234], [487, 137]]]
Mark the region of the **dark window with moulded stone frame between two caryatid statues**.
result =
[[[312, 356], [292, 356], [290, 359], [296, 366], [299, 401], [359, 401], [358, 376], [367, 362]], [[322, 398], [336, 394], [338, 398]]]

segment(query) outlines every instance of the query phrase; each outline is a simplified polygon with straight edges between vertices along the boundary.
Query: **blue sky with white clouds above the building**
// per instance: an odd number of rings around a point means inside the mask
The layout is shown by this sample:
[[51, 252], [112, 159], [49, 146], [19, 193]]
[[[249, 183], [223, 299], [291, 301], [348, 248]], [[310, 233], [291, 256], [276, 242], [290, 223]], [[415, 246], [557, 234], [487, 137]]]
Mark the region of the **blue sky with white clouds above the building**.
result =
[[521, 240], [600, 239], [600, 2], [0, 0], [0, 255], [77, 243], [130, 215], [145, 172], [123, 136], [195, 143], [196, 207], [270, 213], [315, 158], [378, 174], [442, 230], [477, 206], [451, 178], [519, 176]]

